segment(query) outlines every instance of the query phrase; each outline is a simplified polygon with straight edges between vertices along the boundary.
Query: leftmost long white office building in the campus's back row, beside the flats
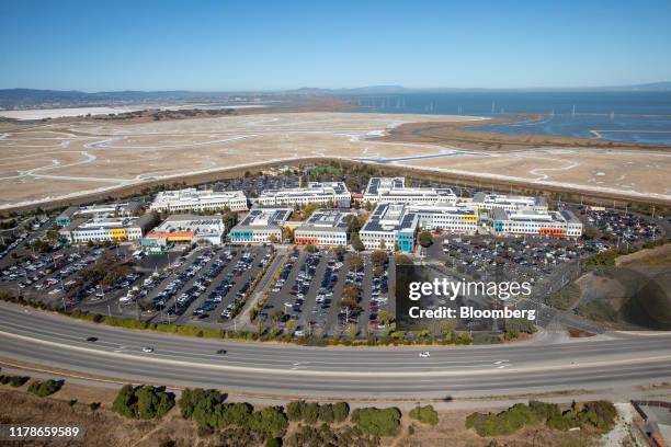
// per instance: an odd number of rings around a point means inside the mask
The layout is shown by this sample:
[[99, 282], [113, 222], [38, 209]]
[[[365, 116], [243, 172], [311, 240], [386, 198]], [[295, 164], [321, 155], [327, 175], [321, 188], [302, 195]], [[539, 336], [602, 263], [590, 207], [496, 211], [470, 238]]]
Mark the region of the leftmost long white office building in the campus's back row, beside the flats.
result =
[[157, 211], [209, 211], [230, 208], [232, 211], [248, 209], [247, 196], [242, 191], [185, 190], [161, 191], [156, 195], [149, 209]]

